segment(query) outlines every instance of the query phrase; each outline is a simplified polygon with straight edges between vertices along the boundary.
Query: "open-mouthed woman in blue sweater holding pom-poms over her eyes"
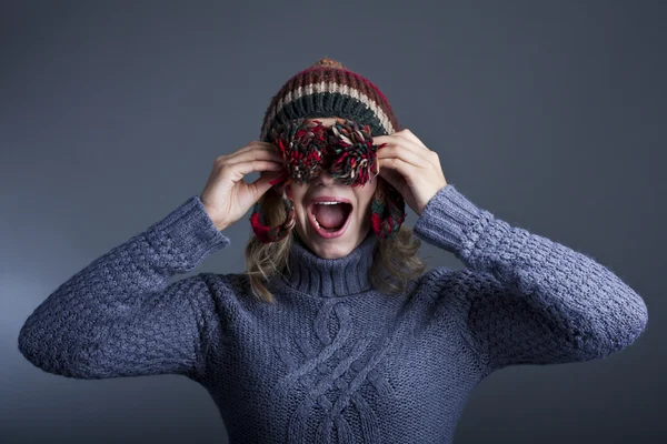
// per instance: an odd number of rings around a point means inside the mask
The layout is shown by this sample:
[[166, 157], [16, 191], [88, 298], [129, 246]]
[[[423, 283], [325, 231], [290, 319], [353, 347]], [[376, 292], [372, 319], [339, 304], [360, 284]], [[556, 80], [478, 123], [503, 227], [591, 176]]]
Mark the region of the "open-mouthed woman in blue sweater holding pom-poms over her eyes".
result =
[[[300, 122], [312, 131], [298, 134], [349, 141], [344, 120], [372, 133], [344, 170], [310, 144], [287, 151], [277, 130]], [[608, 269], [448, 184], [386, 97], [336, 61], [281, 88], [260, 139], [49, 295], [21, 329], [23, 355], [68, 377], [186, 375], [211, 394], [231, 443], [446, 443], [491, 372], [603, 359], [646, 326], [643, 299]], [[404, 203], [415, 234], [465, 269], [425, 271]], [[253, 205], [246, 273], [168, 284], [223, 249]]]

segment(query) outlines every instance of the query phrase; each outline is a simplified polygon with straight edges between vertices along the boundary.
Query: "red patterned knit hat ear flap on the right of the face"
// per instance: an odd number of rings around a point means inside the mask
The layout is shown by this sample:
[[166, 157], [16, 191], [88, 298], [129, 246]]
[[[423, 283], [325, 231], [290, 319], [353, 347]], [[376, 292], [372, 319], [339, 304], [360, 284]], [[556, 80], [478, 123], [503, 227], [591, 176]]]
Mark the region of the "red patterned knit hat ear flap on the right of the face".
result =
[[389, 182], [380, 176], [377, 179], [371, 203], [372, 231], [380, 239], [392, 239], [406, 219], [406, 202]]

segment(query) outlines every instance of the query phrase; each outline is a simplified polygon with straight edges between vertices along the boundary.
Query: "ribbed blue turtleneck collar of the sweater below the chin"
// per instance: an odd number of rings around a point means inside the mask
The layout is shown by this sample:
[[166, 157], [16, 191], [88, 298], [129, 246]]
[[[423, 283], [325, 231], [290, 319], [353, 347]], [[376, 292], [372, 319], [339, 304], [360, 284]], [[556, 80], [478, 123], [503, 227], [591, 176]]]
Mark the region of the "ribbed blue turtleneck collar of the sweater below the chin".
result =
[[347, 256], [322, 259], [315, 254], [295, 233], [289, 252], [287, 285], [302, 293], [325, 297], [346, 296], [372, 287], [370, 269], [379, 239], [372, 231]]

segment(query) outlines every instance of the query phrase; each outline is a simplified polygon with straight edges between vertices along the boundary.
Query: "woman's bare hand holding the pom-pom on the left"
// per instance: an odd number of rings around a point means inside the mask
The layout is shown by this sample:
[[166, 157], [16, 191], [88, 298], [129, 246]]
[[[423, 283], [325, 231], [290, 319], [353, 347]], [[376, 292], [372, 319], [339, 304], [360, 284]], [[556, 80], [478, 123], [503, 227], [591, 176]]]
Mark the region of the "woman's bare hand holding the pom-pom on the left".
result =
[[[213, 163], [199, 199], [218, 230], [233, 224], [255, 205], [285, 172], [285, 161], [276, 145], [252, 141], [230, 154], [220, 155]], [[261, 171], [259, 179], [247, 183], [243, 176]]]

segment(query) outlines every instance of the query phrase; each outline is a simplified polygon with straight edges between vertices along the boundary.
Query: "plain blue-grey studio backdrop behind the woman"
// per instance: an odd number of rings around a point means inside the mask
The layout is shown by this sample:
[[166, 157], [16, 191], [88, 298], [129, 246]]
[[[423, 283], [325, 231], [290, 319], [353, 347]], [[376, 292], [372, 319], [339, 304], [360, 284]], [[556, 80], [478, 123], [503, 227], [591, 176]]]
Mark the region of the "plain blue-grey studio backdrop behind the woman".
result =
[[[661, 1], [2, 2], [0, 442], [226, 442], [191, 381], [51, 375], [19, 354], [18, 332], [60, 283], [200, 193], [213, 159], [258, 139], [271, 95], [325, 56], [375, 82], [469, 199], [589, 254], [648, 305], [644, 335], [605, 360], [492, 374], [456, 442], [665, 438], [666, 11]], [[247, 218], [227, 231], [231, 244], [196, 272], [242, 271]], [[460, 265], [428, 244], [422, 255]]]

